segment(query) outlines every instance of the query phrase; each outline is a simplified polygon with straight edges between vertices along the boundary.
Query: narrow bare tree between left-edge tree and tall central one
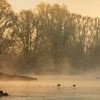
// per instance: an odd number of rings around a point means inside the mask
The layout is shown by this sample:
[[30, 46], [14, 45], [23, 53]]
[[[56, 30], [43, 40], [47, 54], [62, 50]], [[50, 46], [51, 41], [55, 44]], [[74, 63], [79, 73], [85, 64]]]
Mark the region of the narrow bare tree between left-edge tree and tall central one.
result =
[[[14, 32], [16, 34], [15, 49], [18, 50], [19, 56], [18, 70], [28, 70], [34, 64], [34, 42], [35, 42], [35, 28], [36, 20], [34, 13], [31, 10], [22, 10], [16, 16], [14, 21]], [[15, 50], [15, 51], [16, 51]], [[30, 67], [28, 67], [30, 66]]]

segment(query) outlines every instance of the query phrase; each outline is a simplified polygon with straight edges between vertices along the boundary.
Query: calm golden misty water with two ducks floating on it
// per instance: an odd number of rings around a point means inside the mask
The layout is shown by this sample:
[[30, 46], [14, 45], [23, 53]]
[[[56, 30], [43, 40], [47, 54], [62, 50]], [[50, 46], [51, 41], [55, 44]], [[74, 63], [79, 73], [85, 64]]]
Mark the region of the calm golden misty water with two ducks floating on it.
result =
[[[57, 83], [62, 86], [58, 89]], [[72, 84], [77, 87], [73, 88]], [[33, 82], [0, 82], [10, 96], [0, 100], [100, 100], [100, 80], [87, 77], [38, 77]]]

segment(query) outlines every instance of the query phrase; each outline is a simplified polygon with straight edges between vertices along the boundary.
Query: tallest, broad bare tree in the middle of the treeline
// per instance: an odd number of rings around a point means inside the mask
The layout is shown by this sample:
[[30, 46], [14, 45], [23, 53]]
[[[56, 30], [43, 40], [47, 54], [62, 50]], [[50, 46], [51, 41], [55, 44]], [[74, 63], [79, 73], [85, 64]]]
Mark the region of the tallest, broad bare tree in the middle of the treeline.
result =
[[38, 26], [36, 28], [36, 38], [38, 38], [37, 44], [39, 45], [39, 50], [41, 50], [43, 55], [54, 59], [55, 70], [58, 70], [59, 61], [62, 59], [61, 56], [66, 55], [66, 51], [64, 54], [64, 50], [67, 47], [65, 47], [66, 43], [64, 41], [69, 39], [69, 31], [71, 31], [71, 23], [67, 23], [69, 12], [65, 5], [60, 6], [58, 4], [50, 5], [44, 3], [37, 6], [37, 12]]

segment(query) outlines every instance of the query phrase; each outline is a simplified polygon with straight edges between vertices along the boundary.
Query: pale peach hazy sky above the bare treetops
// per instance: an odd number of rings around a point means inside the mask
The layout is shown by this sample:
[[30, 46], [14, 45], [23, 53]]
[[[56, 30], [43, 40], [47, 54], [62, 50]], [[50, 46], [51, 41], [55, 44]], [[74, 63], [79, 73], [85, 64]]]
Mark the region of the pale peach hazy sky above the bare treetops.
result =
[[21, 9], [32, 9], [39, 2], [50, 2], [50, 3], [59, 3], [66, 4], [69, 11], [89, 15], [92, 17], [100, 16], [100, 0], [8, 0], [12, 5], [12, 8], [16, 11]]

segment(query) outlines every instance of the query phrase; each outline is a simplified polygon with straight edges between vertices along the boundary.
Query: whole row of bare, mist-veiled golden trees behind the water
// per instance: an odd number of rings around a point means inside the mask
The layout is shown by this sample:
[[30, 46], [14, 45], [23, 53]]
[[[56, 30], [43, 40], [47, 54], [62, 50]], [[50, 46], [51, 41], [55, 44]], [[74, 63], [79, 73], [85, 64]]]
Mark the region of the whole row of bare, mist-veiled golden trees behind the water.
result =
[[[100, 18], [40, 3], [12, 11], [0, 0], [0, 68], [19, 73], [86, 71], [100, 66]], [[70, 69], [70, 70], [69, 70]]]

